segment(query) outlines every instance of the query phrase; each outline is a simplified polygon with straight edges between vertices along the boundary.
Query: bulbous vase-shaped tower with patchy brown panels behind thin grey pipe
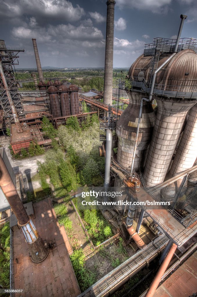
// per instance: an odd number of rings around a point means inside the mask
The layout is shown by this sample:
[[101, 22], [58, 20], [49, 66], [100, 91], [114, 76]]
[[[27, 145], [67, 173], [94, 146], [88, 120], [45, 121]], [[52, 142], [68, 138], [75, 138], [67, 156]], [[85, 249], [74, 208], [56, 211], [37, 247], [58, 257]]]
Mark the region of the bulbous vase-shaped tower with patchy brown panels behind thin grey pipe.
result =
[[[140, 103], [142, 97], [146, 96], [146, 94], [140, 94], [138, 92], [127, 92], [127, 94], [129, 96], [129, 105], [116, 124], [116, 135], [118, 136], [117, 162], [126, 169], [131, 168]], [[144, 101], [134, 162], [135, 171], [139, 171], [139, 169], [143, 168], [146, 149], [151, 140], [154, 121], [155, 113], [151, 102]]]

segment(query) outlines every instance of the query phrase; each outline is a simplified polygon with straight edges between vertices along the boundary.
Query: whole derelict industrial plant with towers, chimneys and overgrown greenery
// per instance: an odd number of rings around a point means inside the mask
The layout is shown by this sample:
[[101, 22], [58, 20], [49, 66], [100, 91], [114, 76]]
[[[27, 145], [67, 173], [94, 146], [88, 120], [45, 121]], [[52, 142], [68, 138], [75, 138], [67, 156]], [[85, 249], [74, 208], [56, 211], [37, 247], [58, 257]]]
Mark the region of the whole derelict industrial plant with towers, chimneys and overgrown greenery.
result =
[[[0, 40], [2, 296], [197, 296], [197, 40], [181, 15], [113, 93], [106, 4], [103, 91], [46, 79], [35, 38], [22, 87], [25, 49]], [[81, 208], [90, 191], [100, 207]]]

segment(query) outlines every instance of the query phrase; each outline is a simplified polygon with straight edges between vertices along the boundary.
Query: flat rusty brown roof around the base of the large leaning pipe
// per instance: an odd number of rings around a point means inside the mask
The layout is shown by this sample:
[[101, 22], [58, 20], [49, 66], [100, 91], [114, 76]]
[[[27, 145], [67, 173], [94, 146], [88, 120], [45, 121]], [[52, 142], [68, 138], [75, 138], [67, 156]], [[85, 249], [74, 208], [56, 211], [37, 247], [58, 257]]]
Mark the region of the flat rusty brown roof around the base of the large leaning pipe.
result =
[[57, 247], [54, 256], [50, 250], [43, 262], [34, 264], [21, 230], [14, 227], [14, 288], [23, 289], [15, 297], [76, 297], [80, 291], [68, 256], [71, 246], [65, 229], [59, 227], [50, 199], [35, 203], [34, 209], [38, 233], [47, 242], [55, 240]]

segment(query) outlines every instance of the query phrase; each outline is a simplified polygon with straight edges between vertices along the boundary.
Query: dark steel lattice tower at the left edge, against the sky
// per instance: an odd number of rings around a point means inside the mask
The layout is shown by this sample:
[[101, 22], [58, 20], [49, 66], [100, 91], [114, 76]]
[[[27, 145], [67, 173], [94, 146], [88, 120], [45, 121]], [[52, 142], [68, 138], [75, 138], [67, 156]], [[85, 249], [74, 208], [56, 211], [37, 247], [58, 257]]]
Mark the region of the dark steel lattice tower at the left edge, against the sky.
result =
[[[10, 92], [12, 102], [18, 115], [24, 115], [24, 109], [21, 102], [21, 95], [18, 93], [17, 82], [15, 80], [14, 71], [12, 66], [18, 65], [18, 53], [24, 52], [24, 48], [6, 48], [4, 40], [0, 40], [0, 60], [4, 75], [7, 81], [8, 90]], [[5, 125], [14, 123], [14, 117], [12, 114], [12, 108], [7, 97], [7, 92], [4, 87], [3, 81], [0, 77], [0, 105], [4, 111]]]

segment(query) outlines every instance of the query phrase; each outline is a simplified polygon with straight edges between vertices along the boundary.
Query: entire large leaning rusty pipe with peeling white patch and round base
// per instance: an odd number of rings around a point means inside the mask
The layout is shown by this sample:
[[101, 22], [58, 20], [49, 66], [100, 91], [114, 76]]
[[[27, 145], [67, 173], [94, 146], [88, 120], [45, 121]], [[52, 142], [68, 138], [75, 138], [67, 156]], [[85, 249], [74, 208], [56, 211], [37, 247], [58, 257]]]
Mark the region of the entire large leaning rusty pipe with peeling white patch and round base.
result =
[[14, 212], [18, 225], [24, 234], [25, 240], [30, 251], [30, 258], [34, 263], [40, 263], [49, 254], [47, 244], [44, 244], [42, 238], [38, 235], [37, 230], [28, 217], [24, 205], [16, 191], [12, 178], [7, 170], [7, 167], [0, 155], [0, 187]]

